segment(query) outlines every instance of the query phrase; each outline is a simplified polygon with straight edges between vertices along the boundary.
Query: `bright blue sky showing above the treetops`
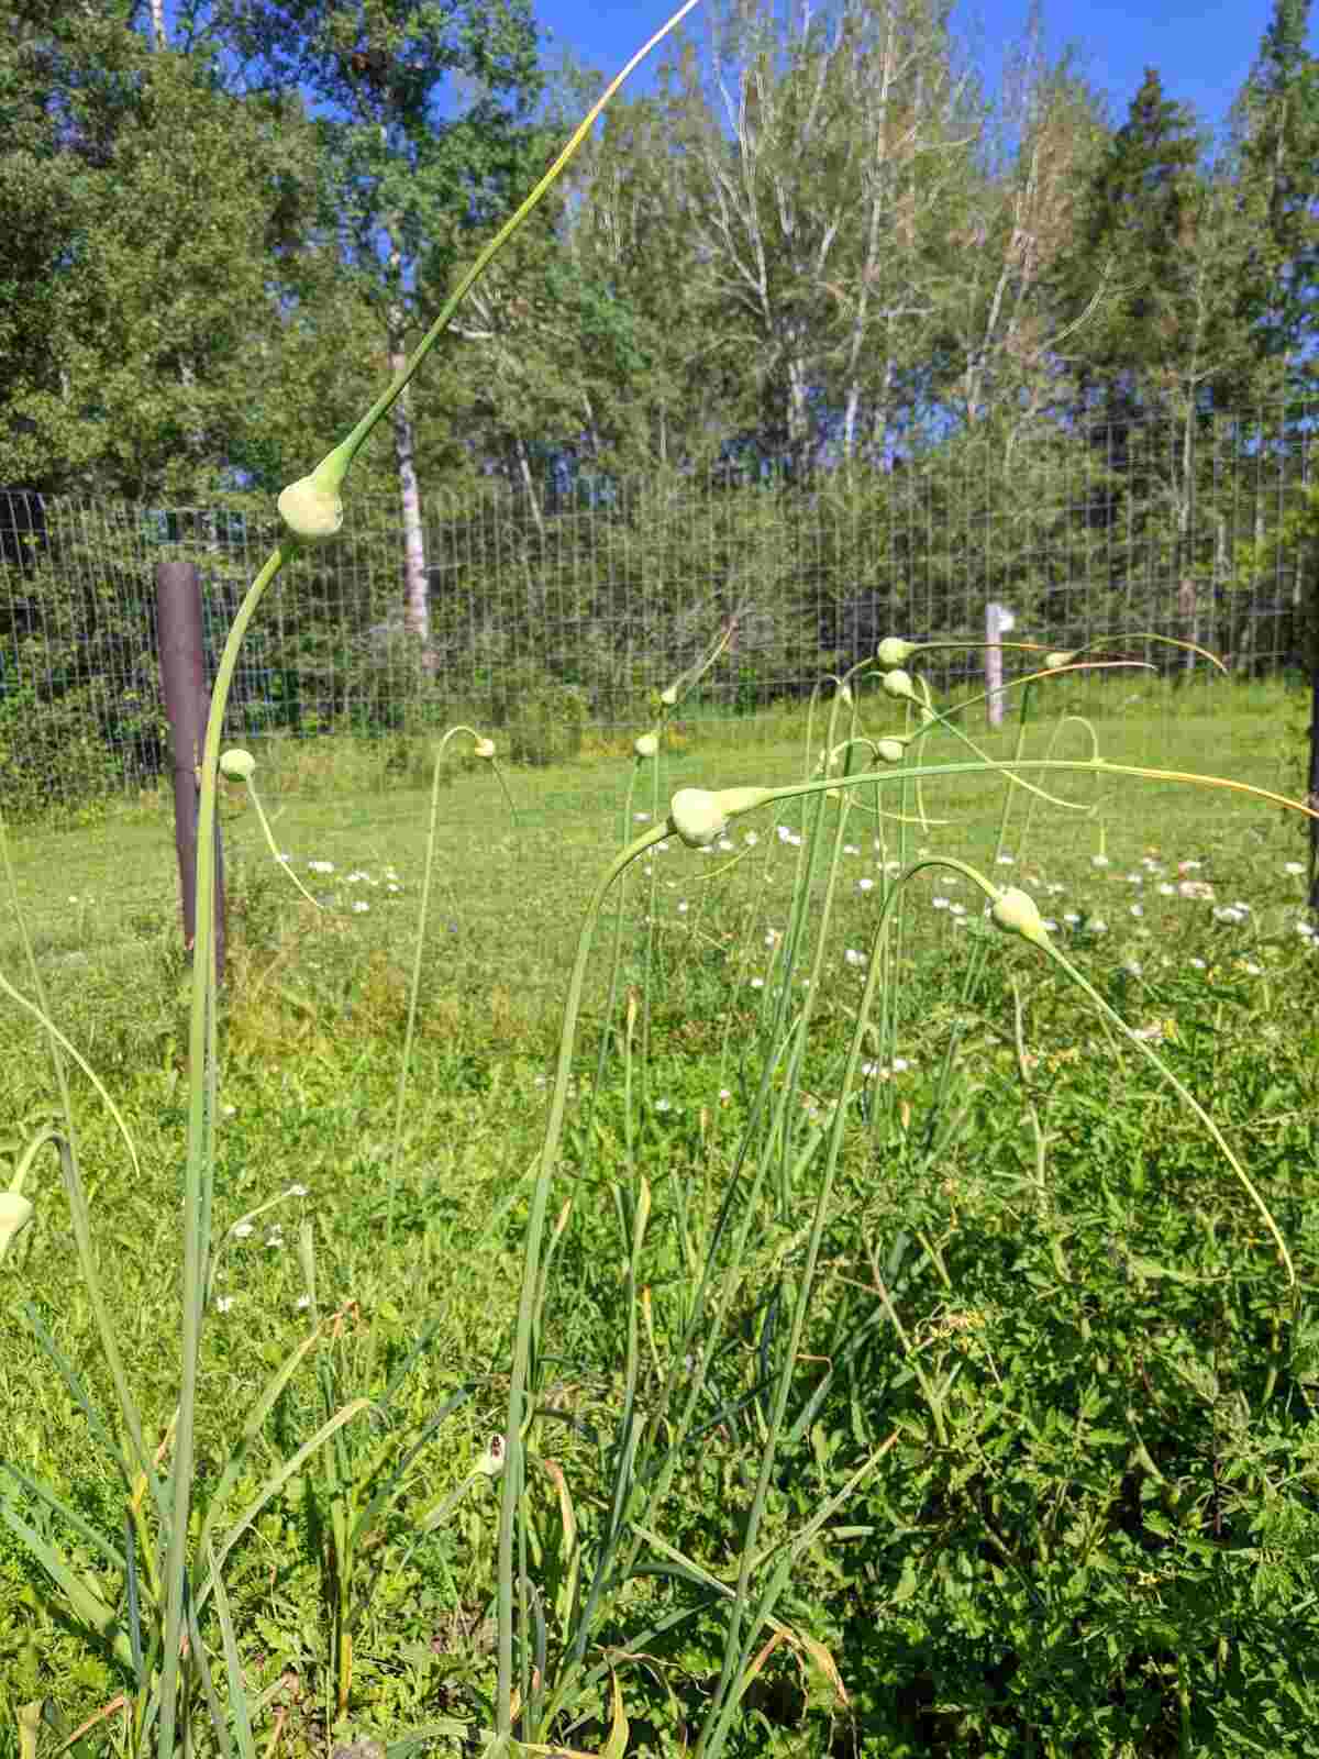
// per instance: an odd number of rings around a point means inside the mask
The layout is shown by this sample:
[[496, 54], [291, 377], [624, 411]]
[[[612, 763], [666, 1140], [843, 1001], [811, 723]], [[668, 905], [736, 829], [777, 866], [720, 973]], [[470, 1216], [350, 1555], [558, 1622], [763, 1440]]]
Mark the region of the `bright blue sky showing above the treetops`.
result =
[[[535, 0], [535, 9], [557, 42], [601, 72], [616, 72], [668, 11], [665, 0], [647, 0], [645, 5]], [[1025, 14], [1025, 0], [957, 4], [955, 19], [973, 42], [983, 44], [976, 60], [990, 86], [997, 83], [1004, 46], [1022, 37]], [[1096, 88], [1108, 93], [1115, 123], [1126, 120], [1145, 67], [1152, 65], [1159, 69], [1168, 95], [1192, 104], [1210, 130], [1226, 121], [1272, 16], [1272, 0], [1055, 0], [1045, 5], [1050, 51], [1057, 53], [1066, 42], [1078, 46], [1080, 67]], [[1314, 19], [1308, 46], [1319, 53]], [[637, 81], [645, 83], [644, 70]]]

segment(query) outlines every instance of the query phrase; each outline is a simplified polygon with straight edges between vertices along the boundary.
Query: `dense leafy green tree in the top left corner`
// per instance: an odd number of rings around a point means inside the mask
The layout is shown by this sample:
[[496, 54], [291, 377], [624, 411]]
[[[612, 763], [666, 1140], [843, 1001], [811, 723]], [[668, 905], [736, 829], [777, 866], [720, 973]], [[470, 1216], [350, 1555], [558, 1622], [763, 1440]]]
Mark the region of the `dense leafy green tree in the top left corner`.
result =
[[278, 255], [313, 169], [294, 120], [225, 97], [204, 60], [153, 53], [111, 7], [56, 11], [0, 58], [23, 99], [0, 215], [37, 274], [0, 292], [5, 473], [204, 491], [241, 463], [273, 359]]

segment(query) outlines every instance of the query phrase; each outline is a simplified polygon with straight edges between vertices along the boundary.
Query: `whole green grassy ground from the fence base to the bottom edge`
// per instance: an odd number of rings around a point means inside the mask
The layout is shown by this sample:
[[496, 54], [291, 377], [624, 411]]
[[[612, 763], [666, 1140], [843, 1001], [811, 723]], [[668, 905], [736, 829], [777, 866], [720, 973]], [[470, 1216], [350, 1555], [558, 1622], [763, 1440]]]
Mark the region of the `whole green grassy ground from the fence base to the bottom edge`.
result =
[[[885, 730], [897, 712], [879, 702], [865, 719]], [[1178, 714], [1155, 702], [1113, 712], [1111, 697], [1092, 693], [1068, 707], [1110, 711], [1092, 725], [1113, 763], [1296, 792], [1293, 711], [1279, 695], [1203, 693]], [[454, 760], [397, 1156], [429, 779], [415, 769], [412, 785], [368, 786], [357, 758], [257, 753], [276, 843], [325, 913], [297, 897], [246, 795], [229, 790], [222, 1244], [202, 1346], [200, 1483], [215, 1485], [311, 1312], [324, 1335], [315, 1372], [310, 1358], [274, 1404], [236, 1507], [327, 1405], [359, 1393], [380, 1402], [426, 1335], [401, 1390], [343, 1432], [339, 1478], [308, 1462], [232, 1551], [229, 1594], [262, 1743], [302, 1754], [343, 1731], [392, 1741], [445, 1717], [482, 1724], [498, 1492], [470, 1474], [503, 1423], [528, 1194], [582, 909], [624, 814], [631, 836], [656, 802], [663, 816], [675, 788], [800, 777], [804, 728], [804, 711], [754, 728], [691, 723], [661, 758], [663, 792], [652, 795], [652, 767], [642, 767], [630, 802], [631, 762], [617, 755], [517, 769], [515, 821], [489, 769]], [[1015, 748], [1011, 723], [969, 728], [994, 756]], [[1041, 721], [1027, 755], [1045, 755], [1050, 737]], [[941, 741], [927, 760], [960, 755]], [[1053, 755], [1089, 755], [1089, 735], [1068, 725]], [[1312, 1750], [1319, 955], [1301, 932], [1301, 823], [1173, 783], [1106, 777], [1096, 793], [1090, 776], [1031, 779], [1097, 811], [1027, 807], [1017, 788], [1001, 836], [1001, 779], [930, 781], [920, 799], [888, 788], [878, 806], [906, 825], [876, 816], [874, 790], [860, 792], [835, 869], [821, 860], [805, 878], [798, 864], [832, 844], [835, 806], [818, 821], [800, 802], [777, 820], [751, 814], [714, 853], [670, 837], [628, 880], [614, 1025], [598, 1061], [616, 932], [605, 911], [552, 1203], [556, 1217], [568, 1198], [572, 1210], [536, 1349], [528, 1571], [543, 1599], [547, 1666], [572, 1599], [565, 1509], [584, 1560], [608, 1527], [640, 1310], [623, 1274], [640, 1180], [652, 1203], [637, 1346], [645, 1405], [686, 1335], [696, 1266], [725, 1265], [721, 1203], [746, 1184], [749, 1145], [767, 1170], [711, 1342], [709, 1421], [647, 1516], [686, 1562], [617, 1585], [594, 1638], [591, 1659], [610, 1652], [619, 1666], [628, 1752], [677, 1752], [716, 1690], [725, 1602], [702, 1601], [693, 1583], [737, 1569], [886, 864], [941, 855], [1031, 892], [1104, 1003], [1199, 1098], [1275, 1215], [1300, 1293], [1287, 1293], [1240, 1180], [1141, 1050], [1034, 948], [987, 929], [966, 876], [922, 872], [904, 894], [900, 982], [885, 989], [849, 1099], [762, 1544], [788, 1543], [879, 1458], [797, 1557], [776, 1615], [790, 1636], [747, 1687], [726, 1750]], [[104, 1103], [74, 1075], [102, 1275], [164, 1456], [178, 1386], [188, 1010], [169, 818], [146, 802], [81, 830], [25, 832], [12, 860], [53, 1015], [137, 1150], [135, 1173]], [[809, 901], [798, 931], [793, 897]], [[0, 974], [30, 992], [9, 909]], [[797, 1045], [804, 982], [814, 1015]], [[628, 997], [631, 1029], [621, 1024]], [[9, 1001], [0, 1068], [0, 1154], [16, 1164], [56, 1094], [35, 1022]], [[37, 1219], [0, 1266], [2, 1453], [121, 1536], [123, 1490], [21, 1317], [32, 1302], [109, 1411], [55, 1168], [49, 1154], [37, 1163]], [[378, 1483], [455, 1393], [463, 1402], [408, 1463], [397, 1513], [353, 1583], [343, 1710], [327, 1634], [336, 1497], [350, 1479]], [[11, 1490], [25, 1520], [114, 1580], [28, 1488], [14, 1479]], [[419, 1534], [448, 1493], [452, 1509]], [[670, 1553], [658, 1558], [672, 1566]], [[0, 1530], [0, 1754], [19, 1704], [49, 1697], [72, 1733], [123, 1689], [121, 1664], [49, 1587]], [[695, 1595], [691, 1617], [656, 1632], [684, 1595]], [[633, 1648], [645, 1659], [624, 1662]], [[561, 1740], [600, 1750], [607, 1690], [605, 1675]], [[111, 1717], [88, 1750], [113, 1745], [116, 1727]], [[431, 1750], [478, 1748], [436, 1734]]]

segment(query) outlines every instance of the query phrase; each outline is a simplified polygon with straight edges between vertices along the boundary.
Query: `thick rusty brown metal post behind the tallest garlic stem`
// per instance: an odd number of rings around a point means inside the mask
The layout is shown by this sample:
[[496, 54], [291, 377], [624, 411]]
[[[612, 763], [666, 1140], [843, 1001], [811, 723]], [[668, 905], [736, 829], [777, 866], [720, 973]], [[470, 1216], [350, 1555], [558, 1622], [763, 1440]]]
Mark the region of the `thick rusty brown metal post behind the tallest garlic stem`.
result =
[[[169, 716], [174, 760], [174, 848], [179, 857], [183, 946], [192, 955], [197, 939], [197, 767], [206, 741], [211, 693], [202, 651], [202, 593], [188, 561], [157, 563], [157, 628], [160, 631], [160, 690]], [[225, 978], [225, 869], [220, 820], [215, 821], [215, 980]]]

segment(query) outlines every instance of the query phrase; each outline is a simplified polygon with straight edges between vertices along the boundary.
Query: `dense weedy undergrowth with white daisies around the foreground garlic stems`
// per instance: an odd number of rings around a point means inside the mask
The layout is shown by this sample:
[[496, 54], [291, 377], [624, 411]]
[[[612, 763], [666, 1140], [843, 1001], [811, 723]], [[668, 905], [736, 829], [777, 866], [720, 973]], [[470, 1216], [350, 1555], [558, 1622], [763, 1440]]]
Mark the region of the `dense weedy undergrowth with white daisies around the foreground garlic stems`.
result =
[[[791, 837], [811, 837], [790, 820], [783, 837], [772, 823], [754, 844], [735, 834], [737, 865], [718, 881], [709, 871], [719, 851], [702, 858], [674, 846], [652, 857], [661, 932], [647, 936], [640, 890], [621, 953], [624, 994], [651, 960], [644, 1068], [630, 1068], [616, 1041], [596, 1084], [593, 1034], [575, 1062], [561, 1180], [573, 1201], [538, 1360], [536, 1453], [547, 1463], [533, 1465], [528, 1485], [550, 1643], [566, 1571], [559, 1472], [586, 1555], [607, 1525], [637, 1180], [652, 1205], [651, 1332], [635, 1390], [645, 1404], [658, 1398], [719, 1203], [747, 1177], [746, 1126], [772, 1043], [762, 1033], [765, 994], [790, 895], [786, 878], [779, 892], [763, 874], [783, 874], [798, 855]], [[635, 1578], [600, 1631], [600, 1653], [616, 1653], [624, 1671], [630, 1752], [679, 1750], [719, 1669], [718, 1604], [624, 1657], [637, 1631], [691, 1604], [693, 1571], [726, 1580], [735, 1569], [823, 1152], [818, 1122], [876, 915], [878, 888], [864, 881], [878, 874], [883, 885], [883, 851], [856, 836], [784, 1126], [791, 1150], [769, 1157], [702, 1393], [705, 1418], [652, 1516], [674, 1555], [656, 1551], [660, 1573]], [[1184, 850], [1126, 850], [1120, 828], [1110, 828], [1111, 853], [1096, 867], [1094, 841], [1090, 830], [1085, 851], [1038, 860], [1020, 851], [1013, 878], [1046, 899], [1060, 888], [1048, 908], [1075, 957], [1210, 1103], [1289, 1242], [1301, 1296], [1294, 1312], [1280, 1303], [1259, 1215], [1203, 1131], [1031, 948], [995, 939], [974, 987], [951, 985], [950, 960], [966, 957], [962, 943], [981, 929], [967, 923], [978, 911], [966, 885], [932, 881], [909, 941], [893, 1048], [872, 1062], [846, 1129], [762, 1544], [786, 1541], [892, 1444], [795, 1562], [777, 1618], [820, 1648], [783, 1639], [767, 1657], [737, 1720], [739, 1754], [1307, 1750], [1315, 1710], [1307, 1657], [1319, 1652], [1317, 960], [1296, 927], [1289, 843], [1261, 832], [1257, 818], [1238, 811], [1217, 825], [1196, 844], [1203, 865], [1185, 871]], [[345, 902], [373, 876], [346, 878], [334, 876]], [[1185, 887], [1213, 897], [1187, 897]], [[1250, 909], [1224, 920], [1238, 902]], [[77, 1082], [98, 1247], [151, 1434], [164, 1437], [186, 1103], [183, 964], [165, 923], [137, 945], [132, 985], [118, 997], [88, 989], [81, 1013], [69, 992], [65, 1027], [113, 1071], [142, 1163], [134, 1179], [104, 1110]], [[302, 1221], [315, 1238], [324, 1349], [345, 1386], [371, 1361], [387, 1381], [429, 1333], [406, 1395], [376, 1420], [382, 1462], [396, 1462], [445, 1398], [468, 1393], [412, 1467], [357, 1583], [346, 1722], [336, 1715], [325, 1617], [331, 1511], [310, 1472], [281, 1490], [229, 1564], [248, 1690], [288, 1752], [318, 1748], [332, 1729], [389, 1740], [445, 1717], [471, 1726], [492, 1669], [492, 1481], [471, 1483], [433, 1534], [419, 1541], [413, 1527], [464, 1483], [499, 1430], [550, 1015], [514, 997], [503, 1011], [491, 1004], [498, 948], [485, 983], [459, 994], [436, 962], [390, 1179], [404, 962], [364, 950], [345, 918], [311, 920], [280, 890], [273, 864], [267, 876], [255, 860], [234, 869], [230, 962], [216, 1159], [225, 1244], [204, 1346], [202, 1434], [232, 1434], [306, 1332]], [[12, 1163], [51, 1089], [30, 1057], [30, 1022], [9, 1010], [2, 1031], [18, 1101]], [[640, 1043], [637, 1022], [633, 1034]], [[301, 1193], [232, 1228], [290, 1186]], [[113, 1530], [113, 1478], [88, 1455], [84, 1418], [16, 1317], [26, 1295], [74, 1361], [91, 1358], [91, 1316], [53, 1193], [28, 1240], [7, 1266], [0, 1361], [9, 1409], [23, 1412], [7, 1458]], [[237, 1500], [315, 1428], [320, 1397], [315, 1374], [290, 1381]], [[218, 1467], [220, 1455], [204, 1448], [202, 1481]], [[47, 1522], [55, 1537], [60, 1523]], [[70, 1627], [16, 1543], [0, 1539], [0, 1694], [11, 1717], [49, 1697], [72, 1733], [116, 1697], [121, 1673]], [[86, 1564], [97, 1569], [90, 1550]], [[573, 1745], [603, 1740], [600, 1694], [596, 1715], [594, 1734], [587, 1717]], [[107, 1719], [84, 1745], [102, 1750], [116, 1727]], [[436, 1736], [434, 1750], [459, 1747]]]

